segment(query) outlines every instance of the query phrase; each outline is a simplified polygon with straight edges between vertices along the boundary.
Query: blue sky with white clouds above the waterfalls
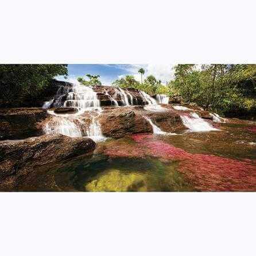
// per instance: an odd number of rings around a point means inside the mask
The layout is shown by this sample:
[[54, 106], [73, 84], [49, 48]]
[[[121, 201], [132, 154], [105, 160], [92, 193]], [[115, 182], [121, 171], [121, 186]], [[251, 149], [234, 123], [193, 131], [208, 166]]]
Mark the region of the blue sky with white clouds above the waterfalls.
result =
[[[79, 76], [85, 77], [87, 73], [100, 75], [103, 85], [111, 85], [114, 80], [125, 75], [134, 75], [135, 79], [140, 80], [139, 68], [145, 69], [144, 77], [154, 75], [157, 79], [165, 83], [172, 79], [173, 71], [170, 64], [69, 64], [68, 80], [74, 82]], [[64, 80], [63, 77], [57, 77]]]

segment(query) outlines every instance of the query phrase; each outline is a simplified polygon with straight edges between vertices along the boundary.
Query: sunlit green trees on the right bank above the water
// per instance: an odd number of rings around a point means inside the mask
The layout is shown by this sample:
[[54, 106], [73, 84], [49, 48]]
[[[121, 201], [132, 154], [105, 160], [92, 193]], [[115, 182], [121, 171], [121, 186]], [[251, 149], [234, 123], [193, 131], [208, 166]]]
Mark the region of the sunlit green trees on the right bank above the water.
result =
[[170, 90], [186, 102], [195, 102], [214, 111], [250, 110], [256, 107], [256, 65], [185, 64], [174, 67]]

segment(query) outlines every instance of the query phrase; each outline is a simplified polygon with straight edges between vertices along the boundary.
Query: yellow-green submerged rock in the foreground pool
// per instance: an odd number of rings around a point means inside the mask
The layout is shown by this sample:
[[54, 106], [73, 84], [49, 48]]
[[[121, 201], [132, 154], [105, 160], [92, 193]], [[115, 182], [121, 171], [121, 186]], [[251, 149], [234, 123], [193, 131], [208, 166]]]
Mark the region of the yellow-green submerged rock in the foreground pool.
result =
[[138, 173], [121, 173], [109, 170], [85, 186], [86, 191], [146, 191], [145, 177]]

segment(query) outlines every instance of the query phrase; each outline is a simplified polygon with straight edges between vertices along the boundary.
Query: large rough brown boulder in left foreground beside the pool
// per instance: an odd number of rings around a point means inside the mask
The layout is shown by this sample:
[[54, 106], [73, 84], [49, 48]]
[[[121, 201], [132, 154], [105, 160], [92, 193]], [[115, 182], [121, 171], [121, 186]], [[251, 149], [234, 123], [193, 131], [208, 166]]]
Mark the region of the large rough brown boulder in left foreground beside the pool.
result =
[[14, 174], [20, 176], [31, 172], [35, 166], [86, 154], [94, 149], [95, 142], [90, 138], [71, 138], [61, 134], [3, 141], [0, 142], [0, 180]]

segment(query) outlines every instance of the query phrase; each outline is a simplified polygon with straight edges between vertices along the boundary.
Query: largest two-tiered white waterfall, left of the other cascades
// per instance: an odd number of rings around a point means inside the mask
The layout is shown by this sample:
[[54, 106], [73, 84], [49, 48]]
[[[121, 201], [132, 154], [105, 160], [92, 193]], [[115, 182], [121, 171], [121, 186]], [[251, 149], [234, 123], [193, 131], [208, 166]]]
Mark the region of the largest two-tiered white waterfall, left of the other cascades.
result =
[[75, 114], [56, 114], [48, 110], [52, 115], [52, 121], [46, 123], [43, 130], [46, 134], [63, 134], [69, 137], [83, 136], [83, 122], [81, 114], [88, 111], [91, 115], [91, 125], [86, 130], [87, 137], [94, 138], [96, 141], [104, 139], [99, 122], [96, 120], [102, 108], [97, 98], [96, 92], [92, 88], [81, 84], [74, 84], [73, 87], [59, 88], [54, 107], [73, 107], [78, 110]]

